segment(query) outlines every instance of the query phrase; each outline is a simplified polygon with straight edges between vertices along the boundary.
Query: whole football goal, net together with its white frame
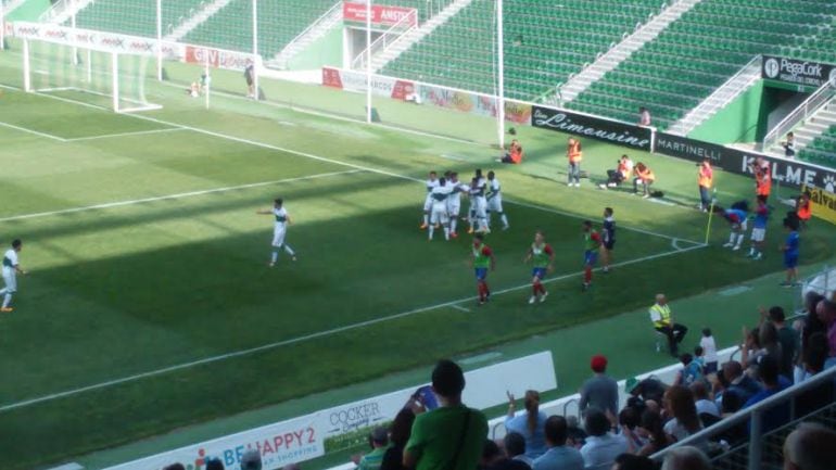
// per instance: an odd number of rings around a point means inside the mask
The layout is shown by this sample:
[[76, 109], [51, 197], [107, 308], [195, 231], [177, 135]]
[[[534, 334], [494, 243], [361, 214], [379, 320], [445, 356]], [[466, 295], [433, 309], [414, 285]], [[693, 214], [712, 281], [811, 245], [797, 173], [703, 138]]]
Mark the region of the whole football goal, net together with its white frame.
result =
[[26, 91], [52, 93], [117, 113], [162, 107], [145, 97], [145, 81], [154, 67], [154, 59], [148, 55], [33, 39], [23, 45]]

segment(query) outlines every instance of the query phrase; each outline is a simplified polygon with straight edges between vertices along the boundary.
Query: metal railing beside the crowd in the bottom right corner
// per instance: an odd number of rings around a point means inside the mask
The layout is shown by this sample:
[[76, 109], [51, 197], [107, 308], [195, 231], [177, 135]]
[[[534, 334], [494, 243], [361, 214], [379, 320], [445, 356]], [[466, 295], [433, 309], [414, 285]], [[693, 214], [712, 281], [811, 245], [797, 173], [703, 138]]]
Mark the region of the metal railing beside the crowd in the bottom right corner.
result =
[[[727, 418], [724, 418], [722, 421], [718, 422], [717, 424], [706, 428], [702, 431], [696, 434], [693, 434], [677, 442], [676, 444], [654, 454], [651, 458], [655, 460], [661, 460], [672, 448], [686, 446], [686, 445], [700, 445], [706, 442], [715, 440], [720, 434], [726, 431], [730, 431], [733, 428], [748, 424], [747, 442], [743, 446], [738, 446], [732, 449], [731, 452], [739, 452], [743, 448], [748, 449], [747, 452], [748, 470], [760, 470], [761, 459], [763, 457], [763, 446], [767, 441], [764, 437], [767, 435], [770, 435], [781, 430], [781, 428], [775, 430], [764, 430], [764, 422], [763, 422], [764, 412], [768, 412], [769, 410], [775, 408], [776, 406], [788, 406], [789, 408], [788, 423], [797, 421], [798, 418], [802, 418], [802, 417], [796, 416], [797, 409], [796, 409], [795, 399], [798, 398], [805, 392], [810, 392], [818, 388], [826, 386], [828, 382], [833, 383], [834, 381], [836, 381], [836, 368], [824, 370], [823, 372], [820, 372], [813, 376], [812, 378], [810, 378], [805, 382], [801, 382], [799, 384], [790, 386], [789, 389], [778, 392], [775, 395], [772, 395], [771, 397], [749, 408], [742, 409], [735, 412], [734, 415]], [[831, 394], [833, 395], [833, 393], [834, 391], [833, 389], [831, 389]], [[836, 397], [831, 396], [831, 399], [826, 402], [826, 405], [822, 408], [816, 409], [815, 411], [821, 411], [823, 409], [826, 409], [833, 406], [834, 398]], [[788, 423], [782, 423], [782, 424], [788, 424]], [[727, 455], [727, 454], [729, 452], [723, 453], [723, 455]], [[722, 457], [723, 455], [721, 455], [720, 457]]]

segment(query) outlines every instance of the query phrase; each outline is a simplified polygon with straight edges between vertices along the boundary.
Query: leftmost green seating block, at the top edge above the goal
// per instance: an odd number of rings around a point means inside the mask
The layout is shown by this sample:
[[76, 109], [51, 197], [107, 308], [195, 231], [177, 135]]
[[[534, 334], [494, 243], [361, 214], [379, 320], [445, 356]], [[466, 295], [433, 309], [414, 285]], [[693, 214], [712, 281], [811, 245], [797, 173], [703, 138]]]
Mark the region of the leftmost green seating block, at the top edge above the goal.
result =
[[[207, 0], [162, 3], [163, 35], [193, 15]], [[76, 16], [78, 27], [134, 36], [156, 36], [156, 0], [96, 0]]]

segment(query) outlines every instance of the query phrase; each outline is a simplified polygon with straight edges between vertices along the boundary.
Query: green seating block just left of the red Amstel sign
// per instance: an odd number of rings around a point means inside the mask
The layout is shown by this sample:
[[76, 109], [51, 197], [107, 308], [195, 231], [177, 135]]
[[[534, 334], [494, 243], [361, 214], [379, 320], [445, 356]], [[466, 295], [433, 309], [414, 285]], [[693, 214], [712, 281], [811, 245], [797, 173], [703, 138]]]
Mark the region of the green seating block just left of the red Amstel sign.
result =
[[[258, 2], [258, 53], [265, 59], [276, 55], [334, 3], [335, 0]], [[252, 51], [252, 17], [250, 0], [233, 0], [189, 33], [183, 41]]]

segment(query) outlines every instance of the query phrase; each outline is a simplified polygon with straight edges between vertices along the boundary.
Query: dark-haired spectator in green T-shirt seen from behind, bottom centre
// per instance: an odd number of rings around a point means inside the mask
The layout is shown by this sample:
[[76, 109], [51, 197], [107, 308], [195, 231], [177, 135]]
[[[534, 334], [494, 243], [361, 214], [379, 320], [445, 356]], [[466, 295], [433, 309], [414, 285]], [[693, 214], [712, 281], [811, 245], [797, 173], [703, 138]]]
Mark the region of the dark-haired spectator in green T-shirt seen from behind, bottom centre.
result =
[[487, 437], [487, 419], [461, 403], [465, 374], [452, 360], [432, 371], [440, 407], [415, 418], [404, 467], [416, 470], [473, 470]]

